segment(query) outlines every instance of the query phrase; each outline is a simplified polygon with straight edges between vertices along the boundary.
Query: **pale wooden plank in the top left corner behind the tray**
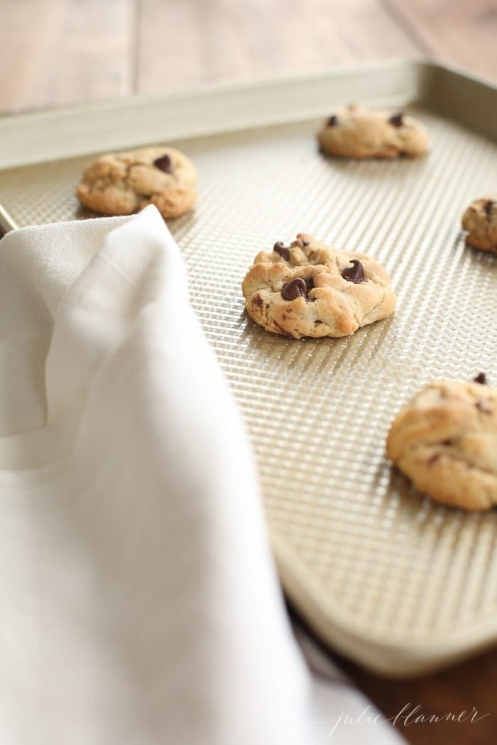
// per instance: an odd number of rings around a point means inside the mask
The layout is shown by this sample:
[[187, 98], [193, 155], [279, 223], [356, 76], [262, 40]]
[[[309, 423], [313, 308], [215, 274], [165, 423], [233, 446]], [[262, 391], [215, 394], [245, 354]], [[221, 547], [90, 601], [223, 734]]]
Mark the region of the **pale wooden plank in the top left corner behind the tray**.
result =
[[0, 110], [129, 93], [133, 0], [1, 0]]

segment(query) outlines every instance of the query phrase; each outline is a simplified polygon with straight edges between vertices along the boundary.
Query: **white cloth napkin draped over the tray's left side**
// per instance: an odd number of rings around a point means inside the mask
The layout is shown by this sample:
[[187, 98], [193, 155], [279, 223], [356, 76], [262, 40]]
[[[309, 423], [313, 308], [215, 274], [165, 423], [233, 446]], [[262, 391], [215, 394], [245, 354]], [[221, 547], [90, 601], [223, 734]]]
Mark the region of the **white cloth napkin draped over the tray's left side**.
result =
[[154, 207], [2, 239], [0, 376], [0, 743], [317, 741], [247, 435]]

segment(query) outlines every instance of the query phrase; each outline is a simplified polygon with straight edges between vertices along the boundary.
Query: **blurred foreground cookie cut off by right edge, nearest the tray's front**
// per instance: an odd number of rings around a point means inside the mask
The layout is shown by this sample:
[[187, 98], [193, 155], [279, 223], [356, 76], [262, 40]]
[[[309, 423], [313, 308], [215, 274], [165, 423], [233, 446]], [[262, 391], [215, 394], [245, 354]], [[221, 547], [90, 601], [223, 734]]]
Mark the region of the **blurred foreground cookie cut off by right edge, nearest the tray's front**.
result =
[[420, 492], [463, 510], [497, 504], [497, 389], [484, 380], [427, 385], [387, 437], [388, 456]]

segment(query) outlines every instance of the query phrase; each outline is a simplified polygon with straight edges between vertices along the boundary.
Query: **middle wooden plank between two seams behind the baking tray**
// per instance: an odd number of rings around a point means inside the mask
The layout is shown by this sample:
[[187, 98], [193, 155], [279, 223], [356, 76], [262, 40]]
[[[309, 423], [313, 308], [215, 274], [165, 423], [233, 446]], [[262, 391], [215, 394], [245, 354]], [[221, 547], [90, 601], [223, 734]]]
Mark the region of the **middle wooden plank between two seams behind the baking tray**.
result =
[[378, 0], [142, 0], [140, 5], [140, 91], [417, 54], [417, 45]]

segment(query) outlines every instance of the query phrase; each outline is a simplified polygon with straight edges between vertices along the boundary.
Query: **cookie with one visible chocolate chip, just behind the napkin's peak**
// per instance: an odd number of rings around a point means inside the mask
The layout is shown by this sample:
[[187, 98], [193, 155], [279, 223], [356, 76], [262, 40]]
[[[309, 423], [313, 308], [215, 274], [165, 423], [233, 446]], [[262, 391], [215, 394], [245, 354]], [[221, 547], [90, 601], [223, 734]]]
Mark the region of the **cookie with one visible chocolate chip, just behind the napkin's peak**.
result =
[[102, 155], [83, 172], [77, 197], [104, 215], [131, 215], [154, 204], [163, 218], [178, 218], [197, 200], [197, 173], [174, 148], [143, 148]]

